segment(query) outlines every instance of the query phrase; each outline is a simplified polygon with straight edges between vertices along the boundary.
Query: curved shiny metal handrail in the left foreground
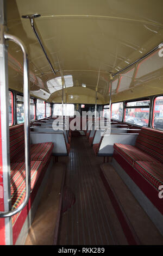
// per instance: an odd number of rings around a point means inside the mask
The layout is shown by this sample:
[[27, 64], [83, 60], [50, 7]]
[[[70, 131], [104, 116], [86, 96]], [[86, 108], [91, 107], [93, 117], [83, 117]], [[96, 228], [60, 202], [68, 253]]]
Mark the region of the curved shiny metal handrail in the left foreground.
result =
[[29, 118], [29, 79], [28, 79], [28, 54], [23, 42], [15, 35], [4, 34], [4, 38], [15, 42], [23, 52], [23, 93], [24, 93], [24, 141], [26, 165], [26, 197], [18, 208], [12, 211], [0, 212], [0, 218], [11, 217], [20, 212], [28, 203], [30, 197], [30, 118]]

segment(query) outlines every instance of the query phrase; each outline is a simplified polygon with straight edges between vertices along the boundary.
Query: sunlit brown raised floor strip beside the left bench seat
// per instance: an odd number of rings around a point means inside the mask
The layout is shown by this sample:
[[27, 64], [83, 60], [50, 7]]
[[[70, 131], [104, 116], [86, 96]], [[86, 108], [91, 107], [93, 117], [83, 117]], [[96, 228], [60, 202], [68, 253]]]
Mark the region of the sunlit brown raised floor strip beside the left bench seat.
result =
[[25, 245], [53, 245], [56, 242], [64, 181], [65, 164], [53, 164]]

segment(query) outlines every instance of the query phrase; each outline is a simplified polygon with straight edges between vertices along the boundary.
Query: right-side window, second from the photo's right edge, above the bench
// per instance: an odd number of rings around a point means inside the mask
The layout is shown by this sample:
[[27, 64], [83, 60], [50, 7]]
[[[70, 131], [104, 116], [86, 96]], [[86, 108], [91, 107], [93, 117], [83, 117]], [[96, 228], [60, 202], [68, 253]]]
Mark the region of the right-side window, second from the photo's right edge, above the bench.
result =
[[127, 102], [124, 121], [129, 124], [148, 126], [149, 100]]

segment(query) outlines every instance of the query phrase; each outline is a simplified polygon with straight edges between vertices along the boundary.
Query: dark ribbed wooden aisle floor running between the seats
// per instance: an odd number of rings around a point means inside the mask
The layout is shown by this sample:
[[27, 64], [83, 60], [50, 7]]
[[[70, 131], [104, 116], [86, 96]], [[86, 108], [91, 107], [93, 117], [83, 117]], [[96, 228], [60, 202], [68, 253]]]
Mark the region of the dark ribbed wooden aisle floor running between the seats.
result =
[[100, 177], [96, 157], [85, 136], [72, 137], [66, 163], [66, 185], [76, 203], [62, 215], [59, 245], [127, 245], [121, 224]]

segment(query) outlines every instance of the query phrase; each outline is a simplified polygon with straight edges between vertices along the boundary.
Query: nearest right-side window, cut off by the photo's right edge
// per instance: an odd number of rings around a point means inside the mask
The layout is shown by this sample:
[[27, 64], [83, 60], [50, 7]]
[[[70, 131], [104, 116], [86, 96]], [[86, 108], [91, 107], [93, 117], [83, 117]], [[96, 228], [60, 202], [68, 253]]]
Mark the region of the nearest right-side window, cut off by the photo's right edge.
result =
[[154, 100], [152, 126], [163, 131], [163, 96], [156, 97]]

